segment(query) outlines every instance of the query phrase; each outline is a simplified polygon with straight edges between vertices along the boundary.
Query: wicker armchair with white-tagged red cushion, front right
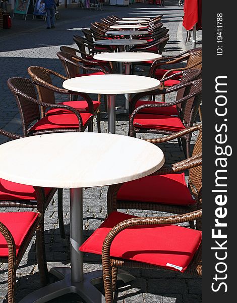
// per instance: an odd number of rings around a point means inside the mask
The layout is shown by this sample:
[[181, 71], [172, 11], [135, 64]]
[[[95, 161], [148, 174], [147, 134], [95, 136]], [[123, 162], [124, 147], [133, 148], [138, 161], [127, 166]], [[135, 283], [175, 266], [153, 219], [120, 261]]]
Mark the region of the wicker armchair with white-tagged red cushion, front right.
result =
[[106, 303], [113, 302], [118, 267], [166, 269], [201, 276], [201, 231], [175, 225], [200, 219], [201, 215], [201, 210], [148, 218], [111, 213], [79, 248], [102, 255]]

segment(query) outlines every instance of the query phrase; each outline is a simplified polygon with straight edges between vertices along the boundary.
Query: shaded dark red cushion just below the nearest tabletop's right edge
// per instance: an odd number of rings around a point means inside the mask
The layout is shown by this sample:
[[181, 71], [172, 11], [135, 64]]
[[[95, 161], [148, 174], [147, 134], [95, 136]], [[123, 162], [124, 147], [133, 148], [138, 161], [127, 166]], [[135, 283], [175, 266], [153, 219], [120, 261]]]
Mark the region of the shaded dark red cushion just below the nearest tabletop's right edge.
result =
[[184, 173], [147, 176], [126, 182], [118, 191], [117, 199], [186, 206], [196, 202], [186, 185]]

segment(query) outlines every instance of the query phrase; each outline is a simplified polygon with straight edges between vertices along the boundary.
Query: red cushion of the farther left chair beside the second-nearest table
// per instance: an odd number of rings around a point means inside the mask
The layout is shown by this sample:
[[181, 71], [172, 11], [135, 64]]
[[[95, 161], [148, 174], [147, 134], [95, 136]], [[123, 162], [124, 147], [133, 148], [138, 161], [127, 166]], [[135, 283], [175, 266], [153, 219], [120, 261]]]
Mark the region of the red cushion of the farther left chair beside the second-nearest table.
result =
[[[61, 105], [68, 105], [71, 106], [72, 108], [78, 110], [80, 113], [81, 112], [88, 112], [88, 103], [85, 100], [82, 101], [67, 101], [67, 102], [60, 102], [57, 104], [61, 104]], [[93, 101], [93, 107], [94, 107], [94, 111], [96, 111], [98, 109], [100, 105], [99, 101]], [[66, 109], [51, 109], [48, 110], [46, 115], [57, 115], [57, 114], [71, 114], [72, 112], [70, 112], [69, 110]]]

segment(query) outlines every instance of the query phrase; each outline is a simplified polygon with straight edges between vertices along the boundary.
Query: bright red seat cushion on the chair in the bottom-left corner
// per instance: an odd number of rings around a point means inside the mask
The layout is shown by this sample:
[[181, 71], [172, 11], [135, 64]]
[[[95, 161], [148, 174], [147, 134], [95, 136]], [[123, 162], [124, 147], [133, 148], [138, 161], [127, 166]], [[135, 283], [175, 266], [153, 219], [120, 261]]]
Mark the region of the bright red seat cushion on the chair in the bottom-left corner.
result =
[[[13, 235], [16, 252], [22, 245], [31, 226], [39, 214], [34, 212], [0, 213], [0, 222], [9, 229]], [[8, 257], [8, 245], [4, 236], [0, 233], [0, 257]]]

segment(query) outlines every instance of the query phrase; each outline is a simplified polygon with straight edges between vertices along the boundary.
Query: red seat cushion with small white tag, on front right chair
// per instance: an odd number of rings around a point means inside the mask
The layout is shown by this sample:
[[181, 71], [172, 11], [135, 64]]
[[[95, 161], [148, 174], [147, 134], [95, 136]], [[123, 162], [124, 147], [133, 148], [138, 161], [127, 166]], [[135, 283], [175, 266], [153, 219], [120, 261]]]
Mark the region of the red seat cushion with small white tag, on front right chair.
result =
[[[103, 241], [116, 224], [133, 218], [128, 214], [112, 212], [101, 226], [81, 245], [81, 251], [101, 255]], [[201, 242], [201, 232], [176, 225], [149, 225], [130, 227], [112, 241], [110, 255], [184, 272]]]

